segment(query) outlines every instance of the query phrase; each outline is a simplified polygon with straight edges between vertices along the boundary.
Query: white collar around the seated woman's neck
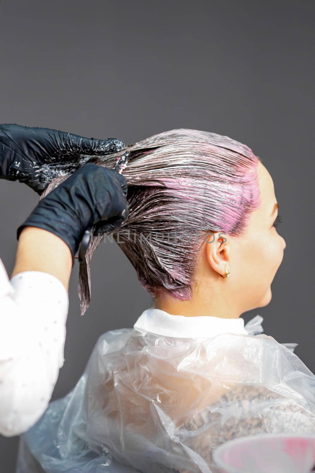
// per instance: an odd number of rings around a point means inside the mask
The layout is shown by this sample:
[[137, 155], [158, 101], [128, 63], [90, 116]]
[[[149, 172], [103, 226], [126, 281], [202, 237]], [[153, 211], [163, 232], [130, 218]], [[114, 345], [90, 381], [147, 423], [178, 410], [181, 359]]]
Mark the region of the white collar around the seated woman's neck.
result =
[[166, 337], [211, 338], [220, 333], [242, 333], [248, 335], [241, 317], [225, 319], [212, 315], [185, 317], [171, 315], [161, 309], [146, 309], [134, 324], [134, 328], [145, 334], [155, 333]]

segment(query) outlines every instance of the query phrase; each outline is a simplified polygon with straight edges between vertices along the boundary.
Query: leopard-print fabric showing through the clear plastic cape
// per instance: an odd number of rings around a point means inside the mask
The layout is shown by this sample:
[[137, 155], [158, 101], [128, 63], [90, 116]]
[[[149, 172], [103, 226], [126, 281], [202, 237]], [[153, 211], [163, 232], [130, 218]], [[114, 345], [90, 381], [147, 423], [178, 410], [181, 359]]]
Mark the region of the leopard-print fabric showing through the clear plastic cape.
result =
[[[315, 433], [315, 415], [307, 407], [264, 386], [242, 385], [193, 415], [180, 431], [188, 432], [185, 445], [197, 452], [213, 473], [220, 473], [213, 461], [213, 451], [219, 445], [262, 433], [309, 435]], [[172, 471], [191, 473], [182, 469]]]

